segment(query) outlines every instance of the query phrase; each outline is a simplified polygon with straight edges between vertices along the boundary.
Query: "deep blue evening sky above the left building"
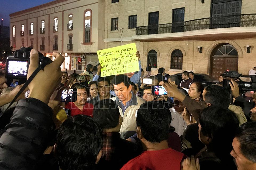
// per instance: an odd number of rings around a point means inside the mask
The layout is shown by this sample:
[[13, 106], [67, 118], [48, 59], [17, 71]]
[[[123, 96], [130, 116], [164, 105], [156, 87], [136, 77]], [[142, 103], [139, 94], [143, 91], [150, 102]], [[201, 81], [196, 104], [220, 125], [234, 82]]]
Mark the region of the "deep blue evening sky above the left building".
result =
[[51, 1], [54, 0], [0, 0], [0, 18], [4, 19], [4, 26], [10, 26], [9, 14]]

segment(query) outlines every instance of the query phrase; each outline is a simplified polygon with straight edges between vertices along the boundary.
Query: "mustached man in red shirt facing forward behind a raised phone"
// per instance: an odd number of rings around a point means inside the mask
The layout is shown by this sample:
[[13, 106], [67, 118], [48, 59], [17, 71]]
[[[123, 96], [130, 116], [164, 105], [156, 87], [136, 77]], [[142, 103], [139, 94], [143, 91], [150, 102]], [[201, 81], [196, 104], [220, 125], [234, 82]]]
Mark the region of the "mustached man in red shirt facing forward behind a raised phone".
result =
[[66, 109], [71, 110], [71, 116], [85, 114], [93, 117], [93, 105], [86, 101], [87, 94], [89, 94], [88, 87], [80, 83], [75, 83], [71, 88], [77, 89], [77, 101], [69, 102], [65, 106]]

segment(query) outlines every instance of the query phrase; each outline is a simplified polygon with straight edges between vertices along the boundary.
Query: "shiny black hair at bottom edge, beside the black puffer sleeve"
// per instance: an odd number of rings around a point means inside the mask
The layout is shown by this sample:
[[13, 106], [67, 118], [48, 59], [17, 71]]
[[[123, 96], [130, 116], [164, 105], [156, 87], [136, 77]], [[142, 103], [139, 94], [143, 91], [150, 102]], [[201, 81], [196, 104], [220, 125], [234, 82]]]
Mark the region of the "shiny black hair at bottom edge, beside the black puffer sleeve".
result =
[[67, 118], [56, 138], [60, 168], [93, 169], [102, 140], [101, 127], [93, 118], [81, 114]]

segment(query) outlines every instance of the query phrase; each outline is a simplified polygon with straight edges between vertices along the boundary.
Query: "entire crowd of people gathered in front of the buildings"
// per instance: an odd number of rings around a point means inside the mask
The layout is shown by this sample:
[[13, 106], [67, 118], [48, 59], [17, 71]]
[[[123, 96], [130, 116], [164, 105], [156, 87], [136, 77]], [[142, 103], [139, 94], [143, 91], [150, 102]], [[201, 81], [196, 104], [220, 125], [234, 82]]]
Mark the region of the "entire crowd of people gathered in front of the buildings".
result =
[[[164, 68], [153, 76], [138, 52], [131, 77], [101, 77], [100, 64], [95, 75], [92, 65], [68, 75], [64, 57], [53, 56], [10, 107], [23, 85], [8, 87], [0, 72], [0, 169], [256, 169], [256, 95], [247, 101], [235, 81], [228, 91], [204, 87], [193, 72], [181, 82]], [[32, 49], [27, 78], [37, 67]], [[60, 102], [70, 89], [76, 100]]]

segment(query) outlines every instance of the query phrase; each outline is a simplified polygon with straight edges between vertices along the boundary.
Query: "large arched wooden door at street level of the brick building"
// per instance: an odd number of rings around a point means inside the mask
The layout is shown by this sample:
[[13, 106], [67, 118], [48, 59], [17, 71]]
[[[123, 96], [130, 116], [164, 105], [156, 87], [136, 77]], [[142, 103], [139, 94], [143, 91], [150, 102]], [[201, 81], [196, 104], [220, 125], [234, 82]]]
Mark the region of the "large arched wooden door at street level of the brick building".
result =
[[230, 44], [217, 47], [211, 56], [210, 75], [214, 79], [218, 79], [226, 70], [238, 70], [238, 53]]

